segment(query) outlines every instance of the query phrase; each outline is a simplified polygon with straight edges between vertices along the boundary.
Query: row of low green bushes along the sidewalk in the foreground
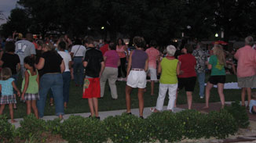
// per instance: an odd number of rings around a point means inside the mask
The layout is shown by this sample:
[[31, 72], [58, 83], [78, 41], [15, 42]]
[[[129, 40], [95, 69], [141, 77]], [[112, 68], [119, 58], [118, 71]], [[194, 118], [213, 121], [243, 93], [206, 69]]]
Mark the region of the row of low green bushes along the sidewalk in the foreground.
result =
[[[234, 108], [234, 107], [233, 107]], [[13, 138], [46, 141], [42, 134], [60, 134], [68, 142], [148, 142], [159, 140], [181, 141], [184, 138], [226, 138], [238, 130], [238, 124], [247, 124], [248, 120], [239, 120], [229, 113], [231, 109], [208, 114], [196, 110], [180, 113], [152, 113], [142, 120], [137, 116], [109, 116], [103, 121], [82, 116], [70, 116], [64, 123], [60, 120], [37, 120], [35, 116], [26, 116], [16, 130], [1, 117], [0, 141], [13, 141]], [[246, 112], [240, 110], [241, 113]], [[247, 115], [246, 115], [247, 116]]]

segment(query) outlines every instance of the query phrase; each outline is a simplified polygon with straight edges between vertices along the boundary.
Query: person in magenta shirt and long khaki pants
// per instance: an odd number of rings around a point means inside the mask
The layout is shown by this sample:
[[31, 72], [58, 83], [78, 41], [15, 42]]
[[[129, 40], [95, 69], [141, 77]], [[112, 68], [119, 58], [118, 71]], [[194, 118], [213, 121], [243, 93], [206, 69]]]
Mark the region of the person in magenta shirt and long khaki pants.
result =
[[104, 53], [105, 69], [101, 76], [101, 98], [104, 96], [104, 88], [108, 80], [112, 99], [114, 100], [118, 98], [115, 81], [117, 80], [118, 66], [120, 65], [119, 55], [115, 51], [115, 48], [115, 43], [108, 45], [108, 51]]

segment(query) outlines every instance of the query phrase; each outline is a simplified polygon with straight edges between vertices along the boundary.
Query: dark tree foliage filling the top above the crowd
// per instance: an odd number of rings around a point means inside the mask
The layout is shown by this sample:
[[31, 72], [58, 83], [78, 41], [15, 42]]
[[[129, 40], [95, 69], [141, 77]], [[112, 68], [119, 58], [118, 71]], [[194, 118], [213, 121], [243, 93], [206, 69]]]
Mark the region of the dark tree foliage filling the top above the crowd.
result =
[[181, 33], [202, 40], [224, 31], [229, 40], [255, 34], [256, 27], [252, 22], [256, 17], [254, 0], [20, 0], [18, 4], [24, 9], [13, 9], [3, 25], [7, 33], [58, 31], [112, 39], [119, 34], [128, 38], [141, 35], [164, 45], [181, 38]]

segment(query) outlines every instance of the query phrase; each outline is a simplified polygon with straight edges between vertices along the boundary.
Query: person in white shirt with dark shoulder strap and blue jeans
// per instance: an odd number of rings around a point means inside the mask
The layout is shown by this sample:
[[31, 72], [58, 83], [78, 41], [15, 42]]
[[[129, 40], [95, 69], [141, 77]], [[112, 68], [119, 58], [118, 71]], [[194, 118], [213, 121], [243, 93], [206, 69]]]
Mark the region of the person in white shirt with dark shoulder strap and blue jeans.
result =
[[82, 87], [83, 82], [83, 70], [82, 60], [86, 55], [86, 48], [82, 45], [82, 41], [79, 39], [75, 40], [75, 45], [71, 48], [71, 56], [73, 57], [73, 73], [75, 86]]

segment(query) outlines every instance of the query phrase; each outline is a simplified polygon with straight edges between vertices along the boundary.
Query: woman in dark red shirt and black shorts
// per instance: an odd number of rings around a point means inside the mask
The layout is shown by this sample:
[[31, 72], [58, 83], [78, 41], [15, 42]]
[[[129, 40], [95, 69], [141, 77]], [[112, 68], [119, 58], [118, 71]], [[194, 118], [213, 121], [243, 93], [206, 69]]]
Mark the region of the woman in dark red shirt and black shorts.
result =
[[[184, 55], [178, 57], [179, 64], [181, 64], [181, 74], [178, 75], [178, 90], [185, 88], [188, 102], [188, 109], [192, 106], [192, 92], [196, 85], [196, 58], [192, 55], [192, 45], [185, 45], [181, 49]], [[177, 100], [177, 97], [176, 97]], [[175, 104], [176, 105], [176, 104]], [[174, 106], [175, 106], [174, 105]]]

